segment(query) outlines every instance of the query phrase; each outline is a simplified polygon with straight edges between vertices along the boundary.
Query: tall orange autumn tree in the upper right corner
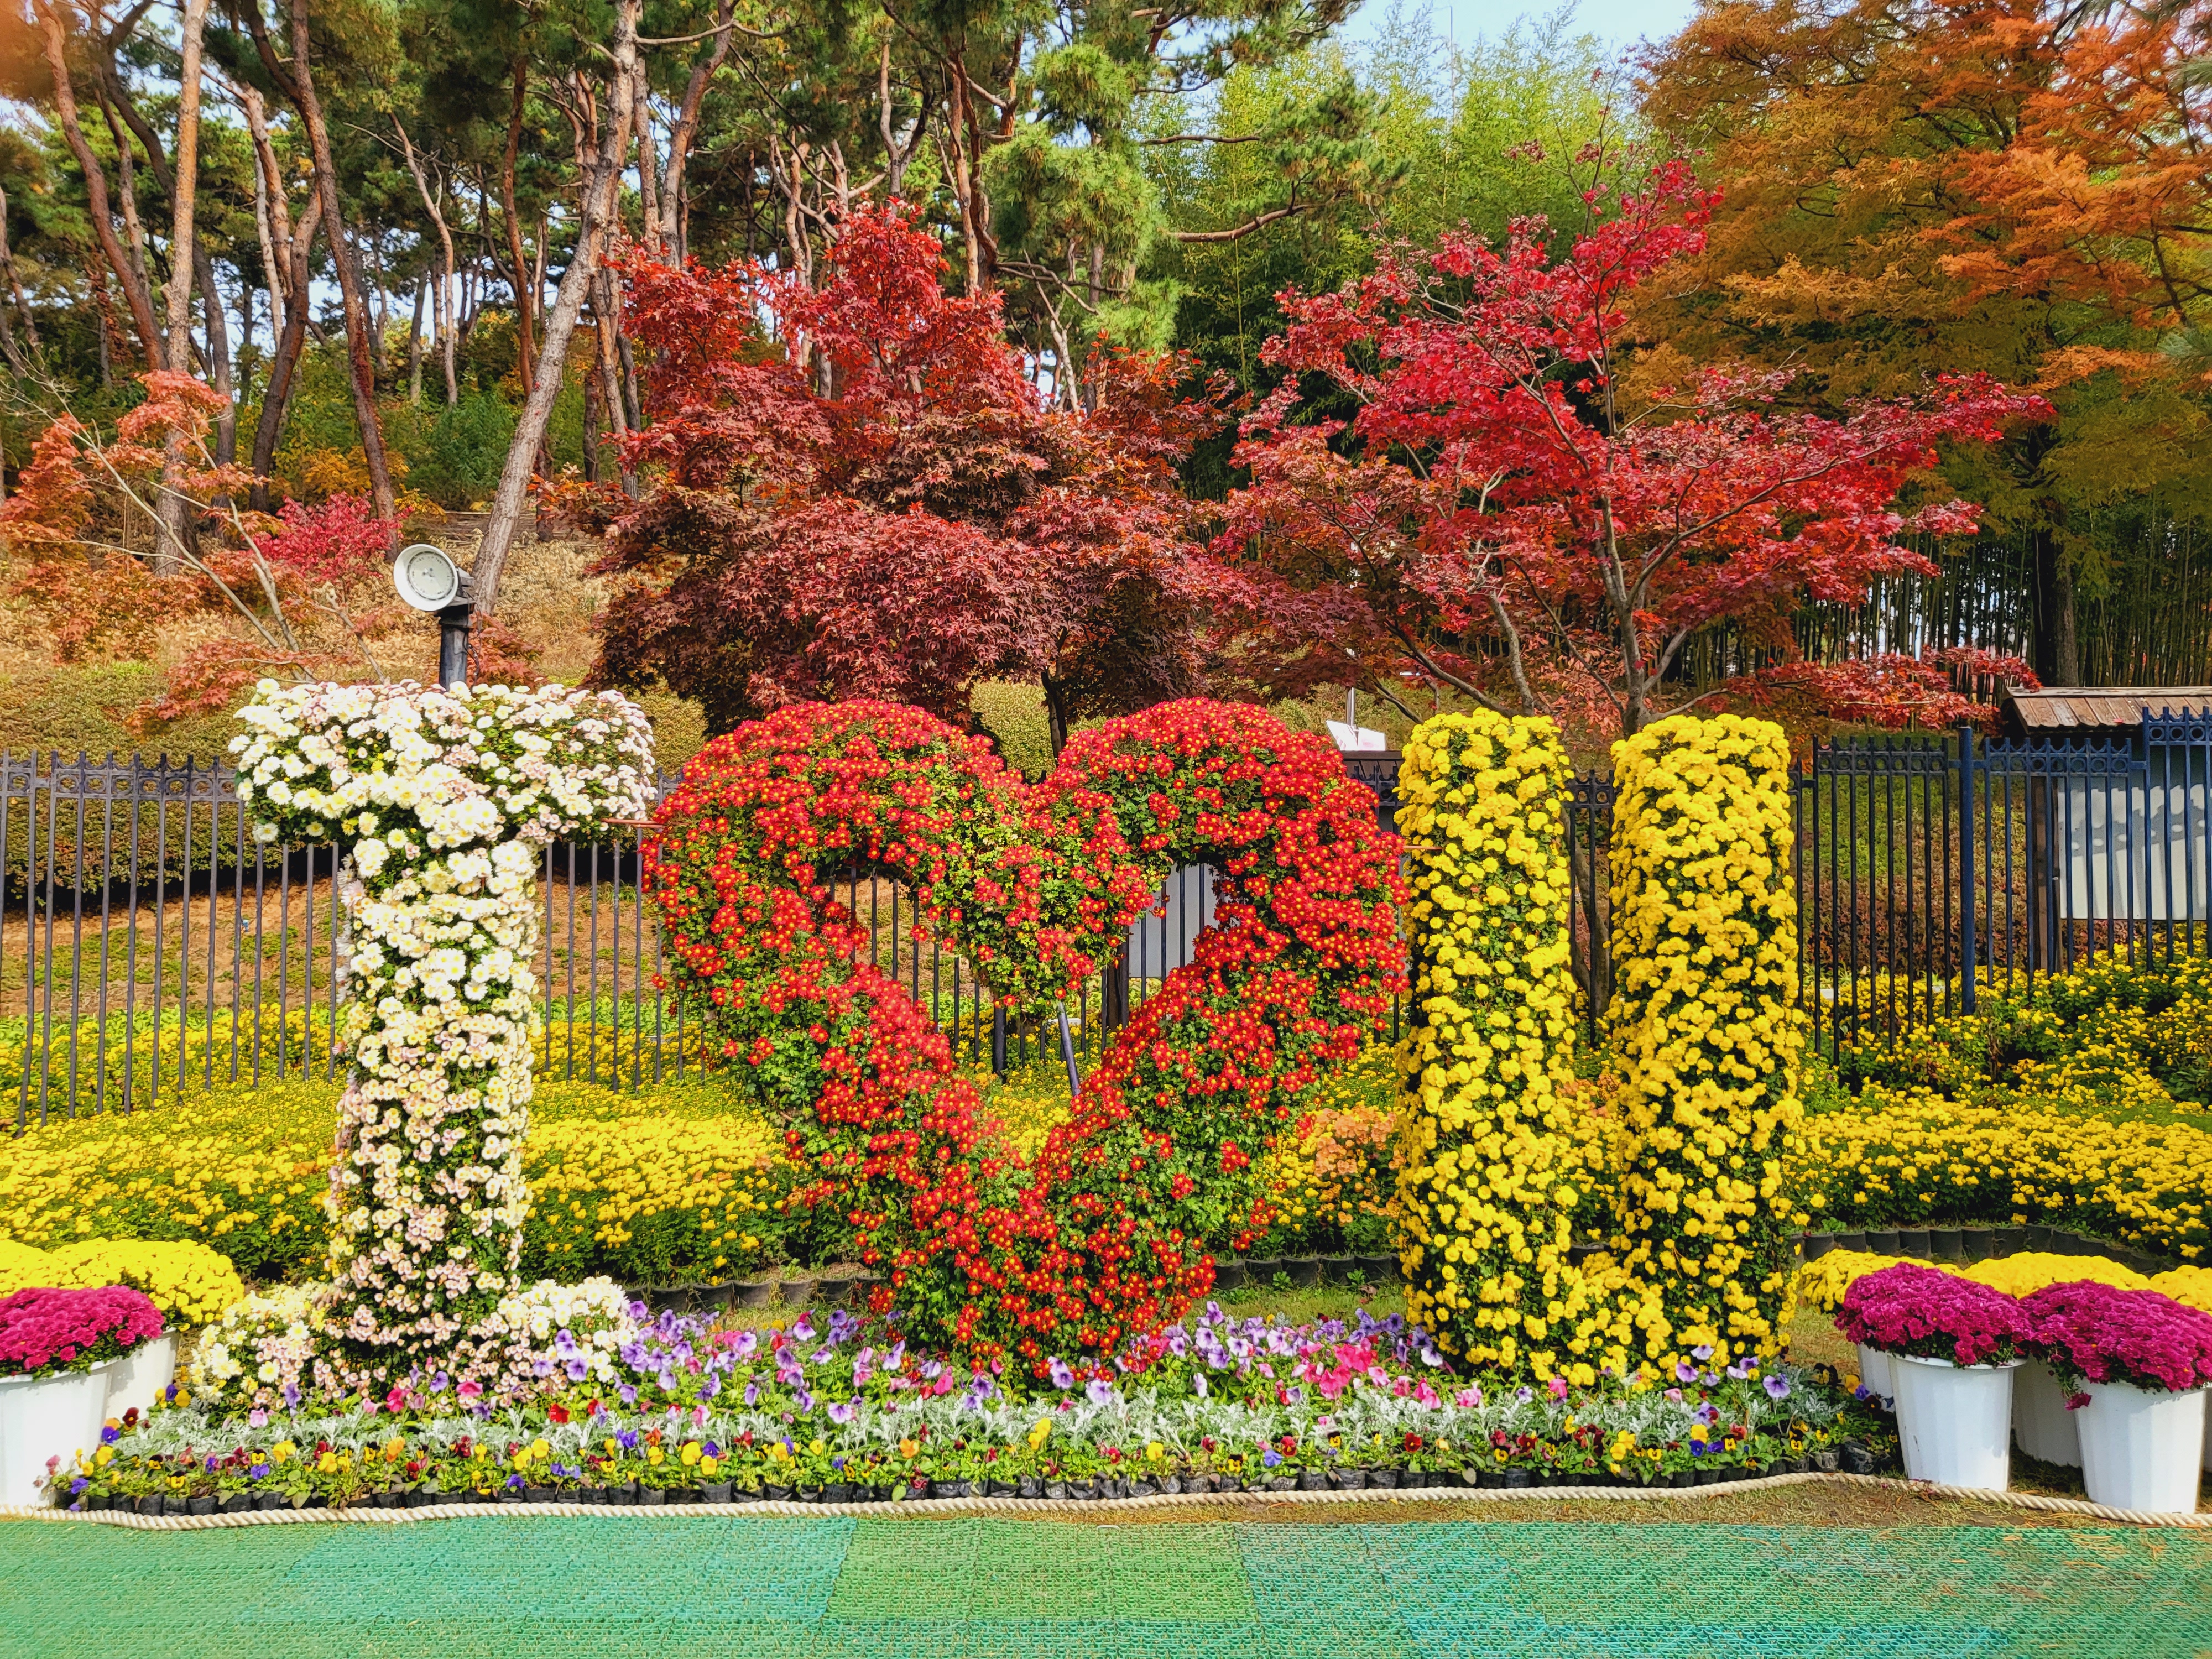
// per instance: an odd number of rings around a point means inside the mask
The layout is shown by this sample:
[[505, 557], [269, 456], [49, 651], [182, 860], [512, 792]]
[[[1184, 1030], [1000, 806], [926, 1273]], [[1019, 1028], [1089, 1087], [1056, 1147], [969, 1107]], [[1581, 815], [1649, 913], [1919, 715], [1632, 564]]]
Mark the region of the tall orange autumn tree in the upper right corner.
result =
[[1933, 363], [2048, 396], [2055, 422], [1951, 465], [2033, 560], [2035, 668], [2079, 681], [2077, 602], [2126, 597], [2124, 538], [2212, 500], [2208, 55], [2205, 7], [1708, 4], [1646, 64], [1721, 190], [1637, 307], [1646, 376], [1745, 356], [1840, 403]]

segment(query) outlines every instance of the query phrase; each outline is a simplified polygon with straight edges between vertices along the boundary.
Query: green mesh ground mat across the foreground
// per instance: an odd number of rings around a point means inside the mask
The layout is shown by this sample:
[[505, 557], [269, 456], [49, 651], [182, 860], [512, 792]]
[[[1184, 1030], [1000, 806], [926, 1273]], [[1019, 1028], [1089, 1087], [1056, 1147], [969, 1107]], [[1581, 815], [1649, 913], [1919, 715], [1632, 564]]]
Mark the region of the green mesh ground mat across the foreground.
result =
[[0, 1659], [2166, 1659], [2212, 1537], [2119, 1528], [0, 1522]]

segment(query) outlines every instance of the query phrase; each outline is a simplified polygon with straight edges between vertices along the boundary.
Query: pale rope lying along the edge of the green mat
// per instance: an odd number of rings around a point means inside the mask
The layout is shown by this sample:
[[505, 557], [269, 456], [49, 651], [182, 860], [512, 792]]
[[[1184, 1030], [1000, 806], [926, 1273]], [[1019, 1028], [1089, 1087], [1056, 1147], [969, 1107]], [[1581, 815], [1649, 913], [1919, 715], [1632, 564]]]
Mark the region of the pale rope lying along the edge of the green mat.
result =
[[1869, 1486], [1876, 1491], [1907, 1491], [1927, 1498], [1971, 1498], [1986, 1504], [2008, 1504], [2013, 1509], [2035, 1509], [2051, 1515], [2081, 1515], [2086, 1520], [2121, 1522], [2126, 1526], [2181, 1526], [2212, 1531], [2212, 1513], [2181, 1515], [2141, 1509], [2110, 1509], [2081, 1498], [2048, 1498], [2026, 1491], [1984, 1491], [1978, 1486], [1944, 1486], [1933, 1480], [1898, 1480], [1893, 1475], [1845, 1475], [1807, 1471], [1803, 1475], [1765, 1475], [1761, 1480], [1725, 1480], [1710, 1486], [1409, 1486], [1409, 1489], [1360, 1489], [1360, 1491], [1239, 1491], [1239, 1493], [1155, 1493], [1150, 1498], [916, 1498], [894, 1504], [796, 1504], [790, 1500], [761, 1500], [750, 1504], [425, 1504], [420, 1509], [257, 1509], [243, 1515], [126, 1515], [106, 1511], [69, 1511], [33, 1504], [0, 1504], [0, 1520], [46, 1520], [80, 1522], [91, 1526], [128, 1526], [142, 1533], [197, 1533], [217, 1526], [288, 1526], [307, 1524], [411, 1524], [438, 1520], [467, 1520], [478, 1515], [522, 1515], [522, 1517], [580, 1517], [580, 1515], [664, 1515], [664, 1517], [818, 1517], [818, 1515], [1095, 1515], [1126, 1513], [1133, 1509], [1214, 1509], [1234, 1504], [1241, 1509], [1265, 1509], [1270, 1504], [1522, 1504], [1522, 1502], [1672, 1502], [1681, 1498], [1723, 1498], [1743, 1491], [1772, 1491], [1778, 1486]]

